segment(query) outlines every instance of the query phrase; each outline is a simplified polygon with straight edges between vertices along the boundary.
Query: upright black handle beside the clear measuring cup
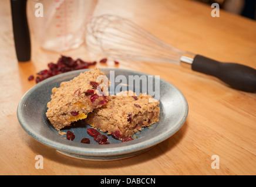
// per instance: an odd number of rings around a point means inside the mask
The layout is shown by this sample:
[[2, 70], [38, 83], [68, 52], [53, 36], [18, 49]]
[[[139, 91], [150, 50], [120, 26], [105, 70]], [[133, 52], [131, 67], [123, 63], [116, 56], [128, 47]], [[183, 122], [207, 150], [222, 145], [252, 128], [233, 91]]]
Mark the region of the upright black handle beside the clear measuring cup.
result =
[[31, 41], [28, 20], [26, 19], [26, 0], [11, 0], [12, 29], [18, 61], [29, 61], [31, 58]]

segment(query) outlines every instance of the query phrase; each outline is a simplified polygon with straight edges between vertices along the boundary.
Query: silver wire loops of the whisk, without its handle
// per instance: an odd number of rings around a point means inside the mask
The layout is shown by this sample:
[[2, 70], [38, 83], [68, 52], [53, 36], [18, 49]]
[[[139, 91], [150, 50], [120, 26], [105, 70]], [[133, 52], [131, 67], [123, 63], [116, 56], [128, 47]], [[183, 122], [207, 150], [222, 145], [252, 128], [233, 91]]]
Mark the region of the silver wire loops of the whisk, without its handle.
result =
[[89, 50], [127, 61], [154, 61], [180, 64], [183, 51], [165, 43], [128, 19], [102, 15], [87, 23]]

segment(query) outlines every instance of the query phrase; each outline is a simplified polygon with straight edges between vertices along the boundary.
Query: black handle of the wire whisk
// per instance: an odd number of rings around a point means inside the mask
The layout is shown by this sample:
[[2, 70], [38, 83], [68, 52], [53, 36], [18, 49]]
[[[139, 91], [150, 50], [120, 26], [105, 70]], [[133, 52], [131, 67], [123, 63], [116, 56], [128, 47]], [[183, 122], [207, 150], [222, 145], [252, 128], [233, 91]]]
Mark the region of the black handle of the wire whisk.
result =
[[246, 65], [221, 63], [196, 55], [192, 70], [217, 77], [235, 89], [256, 92], [256, 70]]

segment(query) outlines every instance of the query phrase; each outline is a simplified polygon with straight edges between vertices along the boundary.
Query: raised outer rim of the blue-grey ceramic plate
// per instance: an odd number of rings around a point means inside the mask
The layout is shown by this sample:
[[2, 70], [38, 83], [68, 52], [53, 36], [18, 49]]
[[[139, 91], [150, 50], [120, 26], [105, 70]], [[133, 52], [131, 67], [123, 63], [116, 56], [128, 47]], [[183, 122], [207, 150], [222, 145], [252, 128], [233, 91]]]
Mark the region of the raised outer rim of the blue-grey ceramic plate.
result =
[[[90, 147], [89, 146], [90, 144], [88, 145], [89, 147], [82, 147], [81, 148], [81, 147], [73, 146], [72, 142], [70, 142], [70, 144], [62, 144], [62, 143], [56, 142], [54, 140], [49, 140], [49, 138], [47, 138], [45, 136], [41, 136], [41, 134], [39, 134], [39, 133], [35, 132], [33, 129], [29, 128], [29, 124], [26, 124], [25, 120], [22, 119], [22, 115], [21, 115], [22, 114], [22, 108], [24, 107], [23, 106], [24, 105], [23, 101], [25, 101], [25, 99], [29, 96], [29, 93], [35, 91], [41, 85], [47, 84], [48, 82], [51, 82], [55, 79], [64, 78], [64, 77], [68, 78], [70, 75], [73, 75], [73, 74], [74, 75], [76, 75], [76, 74], [79, 75], [80, 72], [85, 72], [85, 71], [89, 71], [89, 70], [92, 70], [92, 69], [93, 68], [88, 68], [88, 69], [70, 71], [70, 72], [65, 72], [63, 74], [55, 75], [53, 77], [45, 79], [42, 82], [39, 82], [38, 84], [32, 86], [32, 88], [30, 88], [28, 91], [26, 91], [25, 94], [22, 96], [21, 101], [19, 101], [17, 111], [16, 111], [18, 121], [21, 124], [22, 128], [26, 131], [26, 133], [28, 133], [31, 137], [33, 137], [35, 140], [39, 141], [40, 143], [45, 144], [46, 146], [55, 148], [56, 150], [64, 151], [66, 153], [77, 154], [79, 156], [84, 156], [84, 157], [86, 157], [86, 156], [88, 156], [88, 157], [92, 157], [92, 156], [102, 157], [103, 154], [106, 157], [112, 157], [112, 156], [118, 156], [118, 155], [123, 155], [123, 154], [130, 154], [130, 153], [137, 152], [137, 151], [142, 151], [142, 150], [148, 150], [150, 147], [155, 146], [155, 145], [161, 143], [162, 141], [166, 140], [167, 138], [173, 136], [173, 134], [175, 134], [183, 126], [184, 122], [186, 121], [187, 116], [188, 116], [187, 99], [185, 98], [183, 93], [176, 86], [174, 86], [170, 82], [160, 78], [161, 81], [170, 85], [171, 88], [176, 89], [176, 91], [179, 93], [179, 95], [181, 96], [181, 98], [184, 101], [185, 110], [184, 110], [184, 113], [183, 113], [183, 116], [182, 116], [181, 120], [176, 124], [176, 126], [174, 126], [173, 129], [171, 129], [170, 131], [167, 131], [164, 134], [160, 134], [160, 136], [156, 136], [156, 137], [151, 138], [150, 140], [147, 140], [146, 146], [145, 146], [144, 141], [134, 144], [134, 140], [133, 140], [133, 142], [128, 141], [128, 142], [120, 143], [120, 144], [100, 145], [100, 148], [91, 148], [92, 146]], [[143, 75], [150, 75], [150, 74], [146, 74], [144, 72], [139, 72], [139, 71], [134, 71], [134, 70], [126, 70], [126, 69], [119, 69], [119, 68], [100, 68], [100, 70], [102, 70], [102, 71], [126, 71], [126, 72], [133, 72], [134, 74], [139, 74], [139, 75], [142, 75], [142, 74]], [[134, 146], [136, 146], [136, 149], [134, 149]], [[124, 147], [126, 148], [125, 151], [124, 151]], [[110, 148], [111, 148], [111, 151], [109, 150]]]

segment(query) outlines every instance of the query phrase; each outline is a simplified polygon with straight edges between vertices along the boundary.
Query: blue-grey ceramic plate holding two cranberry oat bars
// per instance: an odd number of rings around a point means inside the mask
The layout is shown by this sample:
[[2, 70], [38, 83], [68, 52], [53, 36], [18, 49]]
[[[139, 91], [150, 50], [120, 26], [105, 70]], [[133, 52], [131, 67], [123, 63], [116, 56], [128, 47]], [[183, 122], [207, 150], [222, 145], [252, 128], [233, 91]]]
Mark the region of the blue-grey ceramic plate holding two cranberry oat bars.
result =
[[[156, 144], [161, 143], [161, 141], [171, 137], [185, 122], [188, 114], [186, 98], [174, 85], [160, 78], [160, 120], [159, 122], [154, 123], [150, 128], [146, 127], [140, 131], [140, 133], [135, 133], [136, 137], [134, 136], [134, 140], [121, 143], [120, 140], [116, 140], [111, 135], [105, 133], [110, 144], [99, 145], [86, 132], [86, 129], [90, 128], [89, 124], [83, 122], [78, 122], [75, 126], [61, 130], [65, 132], [69, 130], [75, 134], [75, 140], [67, 140], [66, 135], [61, 136], [58, 131], [51, 126], [45, 115], [47, 110], [46, 104], [50, 101], [53, 87], [59, 87], [60, 82], [69, 81], [78, 76], [80, 72], [88, 70], [90, 69], [71, 71], [56, 75], [55, 77], [39, 82], [25, 93], [19, 102], [17, 116], [19, 123], [30, 136], [42, 144], [55, 148], [59, 153], [70, 157], [85, 160], [106, 161], [132, 157], [143, 153]], [[149, 78], [152, 78], [154, 85], [157, 85], [158, 82], [156, 81], [157, 78], [155, 76], [144, 74], [142, 72], [115, 68], [102, 68], [101, 70], [105, 72], [109, 79], [110, 71], [112, 73], [114, 72], [114, 79], [112, 79], [111, 82], [111, 84], [114, 84], [114, 88], [119, 85], [119, 88], [127, 86], [128, 89], [129, 84], [131, 84], [128, 81], [129, 76], [135, 75], [138, 75], [139, 77], [143, 75], [148, 82], [150, 81]], [[116, 79], [119, 75], [122, 75], [123, 78], [127, 78], [127, 84], [124, 84], [124, 82], [120, 83], [120, 81]], [[142, 84], [144, 83], [140, 82], [139, 84], [133, 84], [133, 91], [139, 90], [142, 92]], [[147, 89], [148, 88], [149, 86], [147, 86]], [[121, 90], [122, 89], [119, 89], [119, 91]], [[115, 91], [118, 92], [117, 89]], [[109, 93], [110, 95], [114, 94], [110, 89]], [[156, 95], [154, 98], [157, 98]], [[85, 137], [90, 139], [90, 144], [80, 143], [80, 140]]]

